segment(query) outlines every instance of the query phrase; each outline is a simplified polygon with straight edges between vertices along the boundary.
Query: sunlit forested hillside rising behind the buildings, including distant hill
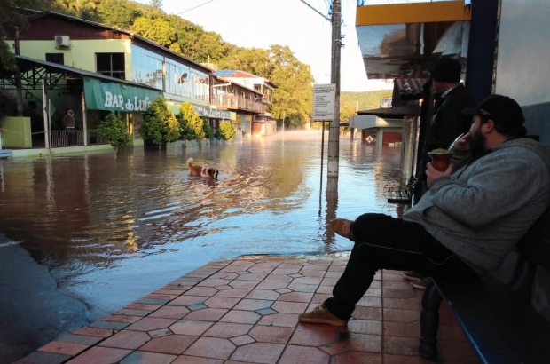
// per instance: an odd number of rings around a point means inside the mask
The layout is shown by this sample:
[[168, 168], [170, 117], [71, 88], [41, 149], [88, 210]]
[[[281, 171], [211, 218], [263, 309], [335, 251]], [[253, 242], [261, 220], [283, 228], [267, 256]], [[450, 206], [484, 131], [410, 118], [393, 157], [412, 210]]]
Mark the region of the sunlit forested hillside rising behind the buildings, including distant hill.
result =
[[[25, 28], [24, 18], [18, 16], [12, 6], [47, 9], [129, 29], [197, 62], [209, 62], [219, 69], [240, 69], [260, 75], [278, 86], [273, 92], [273, 105], [269, 110], [273, 117], [280, 119], [284, 112], [287, 123], [300, 127], [310, 115], [311, 84], [315, 80], [310, 66], [296, 59], [287, 45], [272, 44], [269, 49], [248, 49], [226, 43], [222, 36], [214, 32], [163, 12], [161, 0], [152, 0], [150, 4], [127, 0], [3, 0], [0, 4], [0, 36], [4, 36], [5, 30], [14, 25]], [[0, 44], [0, 60], [4, 67], [10, 64], [4, 42]], [[355, 111], [356, 100], [360, 109], [378, 107], [380, 94], [387, 92], [343, 92], [342, 103], [346, 106], [342, 108]], [[347, 106], [351, 101], [353, 107]]]

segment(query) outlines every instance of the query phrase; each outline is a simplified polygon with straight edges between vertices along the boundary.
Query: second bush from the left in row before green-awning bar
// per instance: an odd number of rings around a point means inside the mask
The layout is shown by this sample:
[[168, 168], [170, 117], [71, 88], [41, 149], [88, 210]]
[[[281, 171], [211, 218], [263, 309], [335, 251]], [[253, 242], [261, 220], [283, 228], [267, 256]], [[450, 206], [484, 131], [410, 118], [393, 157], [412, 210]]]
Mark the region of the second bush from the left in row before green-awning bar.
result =
[[139, 134], [144, 140], [158, 146], [179, 138], [177, 118], [169, 110], [162, 96], [154, 99], [147, 112], [139, 128]]

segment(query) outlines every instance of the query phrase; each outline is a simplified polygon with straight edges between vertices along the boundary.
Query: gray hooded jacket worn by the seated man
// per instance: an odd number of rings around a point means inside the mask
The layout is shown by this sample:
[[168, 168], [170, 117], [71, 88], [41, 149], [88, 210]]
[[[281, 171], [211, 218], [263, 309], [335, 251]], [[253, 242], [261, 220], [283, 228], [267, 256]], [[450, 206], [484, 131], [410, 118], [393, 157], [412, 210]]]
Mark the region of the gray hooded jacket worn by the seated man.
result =
[[499, 268], [550, 202], [550, 146], [508, 140], [437, 178], [404, 219], [483, 273]]

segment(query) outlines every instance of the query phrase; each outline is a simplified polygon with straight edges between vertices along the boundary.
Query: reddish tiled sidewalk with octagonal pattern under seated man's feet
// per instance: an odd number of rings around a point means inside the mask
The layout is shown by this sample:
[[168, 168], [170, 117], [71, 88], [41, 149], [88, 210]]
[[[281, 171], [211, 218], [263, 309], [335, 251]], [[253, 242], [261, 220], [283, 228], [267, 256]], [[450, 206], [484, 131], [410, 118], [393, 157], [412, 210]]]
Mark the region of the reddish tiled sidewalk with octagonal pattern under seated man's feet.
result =
[[[298, 322], [329, 297], [347, 260], [241, 257], [212, 262], [131, 305], [60, 337], [32, 364], [415, 364], [422, 291], [378, 273], [348, 327]], [[446, 363], [478, 363], [446, 306]]]

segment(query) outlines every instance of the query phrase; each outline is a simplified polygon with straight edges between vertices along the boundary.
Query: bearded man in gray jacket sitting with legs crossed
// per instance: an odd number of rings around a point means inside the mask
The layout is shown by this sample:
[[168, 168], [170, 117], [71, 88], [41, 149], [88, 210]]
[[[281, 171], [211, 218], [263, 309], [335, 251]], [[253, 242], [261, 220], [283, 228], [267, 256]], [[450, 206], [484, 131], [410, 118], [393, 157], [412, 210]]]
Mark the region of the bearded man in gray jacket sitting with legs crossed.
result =
[[428, 163], [428, 193], [402, 219], [367, 213], [331, 222], [355, 244], [333, 297], [300, 321], [345, 326], [379, 269], [476, 279], [499, 268], [546, 210], [550, 147], [523, 138], [522, 108], [491, 95], [464, 112], [474, 117], [455, 146], [460, 162], [443, 172]]

